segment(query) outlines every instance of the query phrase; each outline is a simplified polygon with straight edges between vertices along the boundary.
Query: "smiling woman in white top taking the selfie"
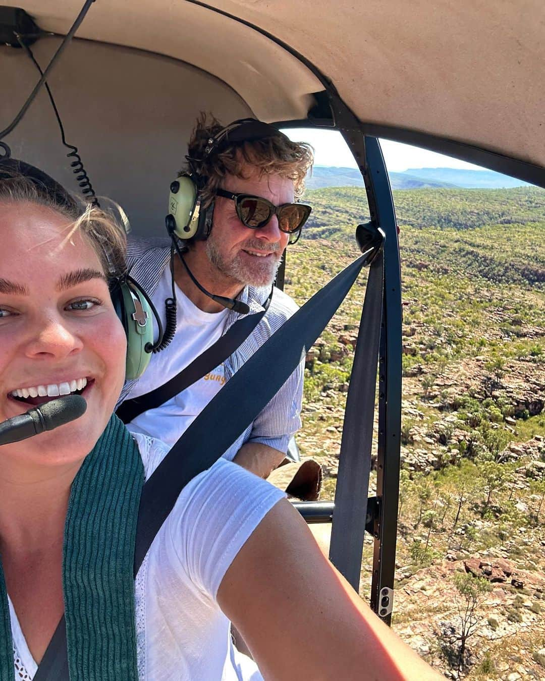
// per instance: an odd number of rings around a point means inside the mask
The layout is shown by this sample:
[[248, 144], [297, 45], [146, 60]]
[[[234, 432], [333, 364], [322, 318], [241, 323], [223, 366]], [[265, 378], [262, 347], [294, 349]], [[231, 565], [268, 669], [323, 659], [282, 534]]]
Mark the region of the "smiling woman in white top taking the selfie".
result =
[[[352, 592], [283, 492], [223, 459], [181, 490], [134, 581], [142, 486], [168, 450], [112, 416], [121, 240], [32, 172], [35, 187], [0, 176], [0, 419], [70, 392], [87, 411], [0, 449], [0, 679], [35, 676], [63, 614], [81, 681], [438, 678]], [[257, 664], [232, 646], [230, 620]]]

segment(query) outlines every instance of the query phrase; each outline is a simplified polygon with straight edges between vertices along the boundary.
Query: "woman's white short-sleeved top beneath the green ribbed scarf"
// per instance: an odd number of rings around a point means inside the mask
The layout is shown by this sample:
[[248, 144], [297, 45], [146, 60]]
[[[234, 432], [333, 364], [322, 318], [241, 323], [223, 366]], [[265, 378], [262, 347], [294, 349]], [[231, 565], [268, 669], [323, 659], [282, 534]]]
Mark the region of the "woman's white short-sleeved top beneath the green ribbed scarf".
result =
[[[168, 452], [135, 433], [146, 479]], [[182, 490], [136, 575], [139, 681], [262, 681], [234, 648], [217, 590], [253, 530], [285, 496], [245, 469], [219, 459]], [[10, 601], [16, 678], [37, 665]]]

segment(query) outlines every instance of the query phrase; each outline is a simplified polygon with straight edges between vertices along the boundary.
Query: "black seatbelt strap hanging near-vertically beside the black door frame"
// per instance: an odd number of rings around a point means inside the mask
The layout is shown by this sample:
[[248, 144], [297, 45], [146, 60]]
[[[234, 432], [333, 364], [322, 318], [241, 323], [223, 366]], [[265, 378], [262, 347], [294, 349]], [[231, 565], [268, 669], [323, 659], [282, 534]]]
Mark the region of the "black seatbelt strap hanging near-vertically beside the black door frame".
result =
[[369, 270], [346, 398], [329, 550], [331, 562], [356, 591], [367, 518], [383, 287], [384, 257], [380, 253]]

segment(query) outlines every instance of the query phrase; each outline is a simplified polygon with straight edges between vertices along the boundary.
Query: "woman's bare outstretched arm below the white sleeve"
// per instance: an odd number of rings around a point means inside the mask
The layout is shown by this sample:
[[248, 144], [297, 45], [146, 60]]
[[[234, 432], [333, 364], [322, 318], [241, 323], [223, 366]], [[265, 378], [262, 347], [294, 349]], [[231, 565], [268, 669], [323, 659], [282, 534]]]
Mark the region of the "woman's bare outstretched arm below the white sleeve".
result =
[[217, 599], [266, 680], [443, 678], [362, 603], [285, 500], [238, 552]]

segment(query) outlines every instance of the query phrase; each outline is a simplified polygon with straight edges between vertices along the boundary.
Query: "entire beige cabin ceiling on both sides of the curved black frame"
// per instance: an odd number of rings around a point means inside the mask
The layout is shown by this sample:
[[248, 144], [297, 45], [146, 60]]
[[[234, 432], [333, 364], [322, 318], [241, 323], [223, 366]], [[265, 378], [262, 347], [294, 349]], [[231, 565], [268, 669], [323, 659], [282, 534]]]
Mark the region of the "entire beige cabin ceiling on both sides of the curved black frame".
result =
[[[43, 29], [65, 33], [82, 1], [7, 4], [22, 6]], [[309, 59], [362, 122], [431, 133], [545, 166], [543, 0], [210, 5]], [[305, 118], [311, 93], [322, 89], [268, 38], [190, 0], [97, 0], [77, 35], [196, 65], [231, 86], [266, 121]]]

